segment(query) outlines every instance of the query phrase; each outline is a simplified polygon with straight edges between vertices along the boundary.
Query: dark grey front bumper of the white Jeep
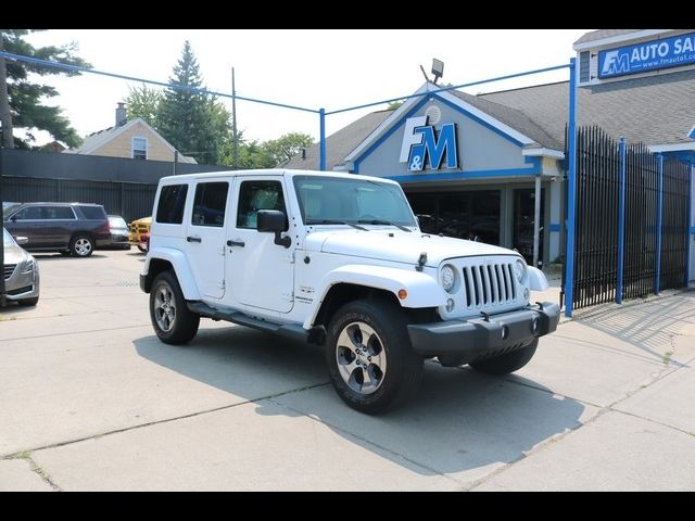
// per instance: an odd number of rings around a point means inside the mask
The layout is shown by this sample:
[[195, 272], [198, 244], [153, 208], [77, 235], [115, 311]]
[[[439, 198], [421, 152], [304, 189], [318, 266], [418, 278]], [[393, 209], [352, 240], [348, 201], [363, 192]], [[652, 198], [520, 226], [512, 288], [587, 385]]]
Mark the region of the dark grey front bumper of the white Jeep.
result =
[[[495, 352], [508, 352], [530, 344], [557, 329], [560, 307], [544, 302], [517, 312], [485, 318], [412, 323], [408, 334], [413, 350], [422, 356], [437, 356], [451, 365], [468, 364]], [[448, 365], [448, 364], [447, 364]]]

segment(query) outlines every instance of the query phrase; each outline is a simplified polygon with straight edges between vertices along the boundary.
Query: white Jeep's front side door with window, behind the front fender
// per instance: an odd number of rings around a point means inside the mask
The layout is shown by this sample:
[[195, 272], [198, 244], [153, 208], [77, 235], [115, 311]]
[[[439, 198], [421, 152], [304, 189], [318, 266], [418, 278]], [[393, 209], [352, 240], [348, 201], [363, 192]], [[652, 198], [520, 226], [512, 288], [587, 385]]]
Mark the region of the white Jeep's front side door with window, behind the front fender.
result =
[[235, 193], [226, 257], [229, 303], [289, 313], [293, 305], [294, 245], [275, 244], [274, 233], [256, 229], [260, 209], [279, 209], [288, 215], [283, 178], [239, 177]]

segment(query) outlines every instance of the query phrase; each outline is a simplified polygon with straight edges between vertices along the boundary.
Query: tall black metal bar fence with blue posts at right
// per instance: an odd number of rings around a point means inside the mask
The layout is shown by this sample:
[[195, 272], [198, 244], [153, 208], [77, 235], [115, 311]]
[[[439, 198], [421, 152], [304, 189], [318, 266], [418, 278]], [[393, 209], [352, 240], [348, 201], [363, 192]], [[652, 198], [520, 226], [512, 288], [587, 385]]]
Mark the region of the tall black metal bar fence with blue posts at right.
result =
[[574, 309], [685, 285], [690, 182], [684, 163], [578, 129]]

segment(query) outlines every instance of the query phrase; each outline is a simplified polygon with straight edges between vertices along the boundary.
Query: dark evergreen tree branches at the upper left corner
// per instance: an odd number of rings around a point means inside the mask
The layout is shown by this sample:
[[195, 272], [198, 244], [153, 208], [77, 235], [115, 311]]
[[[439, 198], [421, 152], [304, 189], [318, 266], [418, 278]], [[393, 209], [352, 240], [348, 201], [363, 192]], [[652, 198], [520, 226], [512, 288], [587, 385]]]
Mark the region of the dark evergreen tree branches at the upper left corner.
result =
[[[31, 31], [36, 29], [30, 29]], [[83, 59], [76, 56], [76, 43], [66, 46], [48, 46], [35, 48], [24, 37], [29, 29], [0, 29], [0, 50], [34, 56], [42, 60], [53, 60], [80, 67], [91, 67]], [[77, 76], [76, 71], [64, 71], [43, 67], [24, 62], [11, 62], [0, 59], [0, 120], [2, 122], [2, 144], [7, 148], [28, 148], [35, 141], [33, 129], [46, 130], [53, 139], [61, 140], [70, 147], [77, 147], [81, 140], [71, 127], [66, 117], [61, 115], [61, 109], [42, 103], [43, 98], [58, 94], [55, 88], [33, 82], [28, 73], [39, 76], [65, 74]], [[22, 140], [13, 136], [13, 128], [25, 128], [27, 139]]]

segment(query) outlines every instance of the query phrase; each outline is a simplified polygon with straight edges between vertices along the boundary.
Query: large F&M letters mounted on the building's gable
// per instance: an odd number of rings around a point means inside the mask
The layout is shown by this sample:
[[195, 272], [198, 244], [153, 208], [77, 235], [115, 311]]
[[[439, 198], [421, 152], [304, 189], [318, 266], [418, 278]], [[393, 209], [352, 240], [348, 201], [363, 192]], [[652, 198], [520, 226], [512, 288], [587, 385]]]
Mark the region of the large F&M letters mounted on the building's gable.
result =
[[438, 137], [434, 127], [427, 124], [427, 116], [408, 117], [405, 120], [400, 162], [406, 163], [410, 171], [428, 168], [428, 163], [429, 168], [437, 170], [444, 156], [445, 168], [458, 167], [456, 124], [442, 125]]

